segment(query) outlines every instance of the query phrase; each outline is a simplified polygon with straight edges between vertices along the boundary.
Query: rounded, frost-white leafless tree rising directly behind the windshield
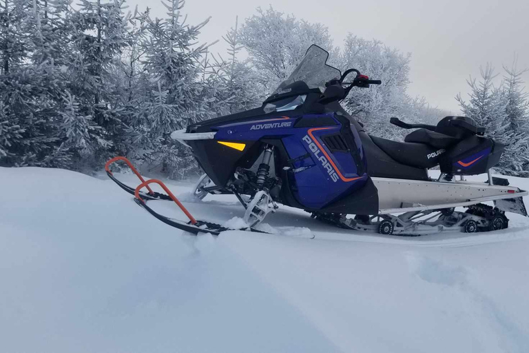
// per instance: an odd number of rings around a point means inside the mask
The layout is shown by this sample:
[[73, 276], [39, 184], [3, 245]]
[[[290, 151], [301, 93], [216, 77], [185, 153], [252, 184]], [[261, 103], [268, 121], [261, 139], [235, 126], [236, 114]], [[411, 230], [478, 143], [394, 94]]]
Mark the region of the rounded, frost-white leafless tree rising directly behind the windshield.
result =
[[331, 50], [333, 42], [326, 26], [286, 16], [272, 7], [257, 9], [240, 30], [240, 43], [245, 46], [260, 81], [269, 94], [287, 79], [295, 65], [303, 59], [312, 44]]

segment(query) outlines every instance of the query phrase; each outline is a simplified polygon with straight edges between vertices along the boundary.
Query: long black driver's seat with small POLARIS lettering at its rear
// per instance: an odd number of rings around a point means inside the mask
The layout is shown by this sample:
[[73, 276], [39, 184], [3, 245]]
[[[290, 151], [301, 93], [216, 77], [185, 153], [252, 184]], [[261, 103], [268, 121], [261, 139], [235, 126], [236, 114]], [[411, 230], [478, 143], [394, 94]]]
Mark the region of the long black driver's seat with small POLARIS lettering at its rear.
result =
[[397, 142], [371, 136], [371, 139], [389, 157], [415, 168], [433, 168], [439, 164], [442, 153], [426, 143]]

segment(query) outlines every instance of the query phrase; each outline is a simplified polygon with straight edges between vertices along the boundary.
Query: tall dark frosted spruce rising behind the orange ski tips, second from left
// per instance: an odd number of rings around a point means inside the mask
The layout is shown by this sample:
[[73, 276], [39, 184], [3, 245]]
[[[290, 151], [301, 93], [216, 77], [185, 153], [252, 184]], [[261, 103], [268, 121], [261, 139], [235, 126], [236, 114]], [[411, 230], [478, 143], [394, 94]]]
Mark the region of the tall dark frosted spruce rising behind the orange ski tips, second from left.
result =
[[116, 57], [127, 47], [128, 15], [124, 14], [123, 0], [103, 2], [82, 0], [79, 10], [68, 19], [72, 36], [72, 50], [68, 74], [68, 90], [79, 103], [79, 114], [91, 117], [101, 129], [92, 130], [91, 150], [102, 163], [123, 139], [123, 109], [116, 96], [119, 80], [112, 74]]

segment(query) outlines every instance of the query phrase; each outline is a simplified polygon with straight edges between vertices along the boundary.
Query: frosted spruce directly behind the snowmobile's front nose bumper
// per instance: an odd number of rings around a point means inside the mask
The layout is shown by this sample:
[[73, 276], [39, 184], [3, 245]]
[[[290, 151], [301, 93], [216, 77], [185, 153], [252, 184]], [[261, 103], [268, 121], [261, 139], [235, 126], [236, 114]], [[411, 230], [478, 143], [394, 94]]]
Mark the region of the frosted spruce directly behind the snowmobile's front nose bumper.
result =
[[200, 82], [200, 61], [206, 45], [195, 46], [198, 34], [209, 21], [196, 26], [185, 23], [178, 0], [163, 2], [167, 19], [147, 18], [149, 35], [143, 41], [143, 65], [149, 74], [149, 90], [130, 125], [136, 141], [136, 157], [150, 169], [182, 176], [196, 168], [188, 148], [172, 141], [169, 134], [210, 117]]

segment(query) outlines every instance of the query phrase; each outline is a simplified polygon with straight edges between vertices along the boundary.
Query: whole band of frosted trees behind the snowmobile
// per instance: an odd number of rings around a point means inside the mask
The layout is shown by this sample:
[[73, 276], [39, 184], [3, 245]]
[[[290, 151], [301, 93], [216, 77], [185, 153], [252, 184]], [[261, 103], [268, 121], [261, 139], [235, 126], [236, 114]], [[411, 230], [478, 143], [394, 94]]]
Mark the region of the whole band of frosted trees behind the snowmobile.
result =
[[[202, 23], [189, 24], [183, 1], [163, 1], [165, 18], [124, 0], [0, 0], [0, 166], [101, 170], [116, 155], [172, 179], [200, 172], [190, 151], [169, 134], [189, 123], [255, 108], [286, 79], [311, 44], [329, 63], [357, 68], [382, 85], [342, 101], [379, 137], [402, 139], [390, 117], [435, 123], [449, 114], [407, 93], [411, 54], [354, 28], [337, 45], [329, 29], [273, 8], [202, 43]], [[486, 60], [486, 58], [485, 58]], [[529, 101], [512, 65], [485, 65], [469, 78], [461, 112], [506, 143], [495, 169], [529, 176]], [[499, 75], [499, 76], [498, 76]], [[457, 92], [455, 92], [456, 95]]]

